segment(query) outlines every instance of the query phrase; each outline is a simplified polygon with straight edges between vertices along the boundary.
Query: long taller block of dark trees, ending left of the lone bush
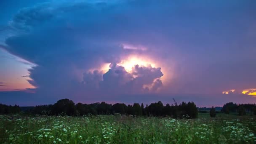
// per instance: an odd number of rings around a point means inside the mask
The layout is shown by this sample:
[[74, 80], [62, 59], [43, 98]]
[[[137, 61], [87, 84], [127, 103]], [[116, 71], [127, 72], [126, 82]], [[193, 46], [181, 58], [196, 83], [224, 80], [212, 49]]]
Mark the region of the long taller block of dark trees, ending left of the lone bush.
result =
[[171, 116], [174, 118], [196, 118], [197, 107], [193, 102], [182, 102], [181, 104], [165, 106], [161, 101], [144, 106], [144, 104], [134, 103], [126, 105], [123, 103], [107, 104], [105, 102], [93, 104], [75, 104], [72, 100], [61, 99], [55, 104], [40, 105], [27, 109], [27, 112], [36, 115], [133, 115], [133, 116]]

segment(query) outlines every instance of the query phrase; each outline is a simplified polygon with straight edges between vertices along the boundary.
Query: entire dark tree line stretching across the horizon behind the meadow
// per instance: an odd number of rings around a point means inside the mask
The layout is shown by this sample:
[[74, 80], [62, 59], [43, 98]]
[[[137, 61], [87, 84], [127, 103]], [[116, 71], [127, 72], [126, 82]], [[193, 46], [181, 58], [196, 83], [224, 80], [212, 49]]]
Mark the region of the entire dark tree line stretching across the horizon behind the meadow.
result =
[[[219, 108], [219, 107], [218, 107]], [[206, 109], [206, 108], [204, 108]], [[216, 107], [207, 108], [210, 110], [210, 116], [216, 116]], [[133, 116], [156, 116], [165, 117], [171, 116], [173, 118], [196, 118], [198, 110], [193, 102], [182, 102], [175, 105], [166, 104], [161, 101], [151, 103], [144, 106], [144, 104], [134, 103], [133, 105], [126, 105], [123, 103], [107, 104], [105, 102], [97, 102], [93, 104], [75, 104], [72, 100], [61, 99], [55, 104], [39, 105], [35, 107], [19, 107], [18, 105], [0, 104], [0, 115], [14, 114], [24, 111], [28, 114], [35, 115], [69, 115], [69, 116], [83, 116], [83, 115], [133, 115]], [[209, 111], [208, 111], [209, 112]], [[229, 114], [229, 112], [237, 112], [239, 115], [246, 115], [251, 113], [256, 115], [256, 104], [234, 104], [229, 102], [224, 104], [221, 112]]]

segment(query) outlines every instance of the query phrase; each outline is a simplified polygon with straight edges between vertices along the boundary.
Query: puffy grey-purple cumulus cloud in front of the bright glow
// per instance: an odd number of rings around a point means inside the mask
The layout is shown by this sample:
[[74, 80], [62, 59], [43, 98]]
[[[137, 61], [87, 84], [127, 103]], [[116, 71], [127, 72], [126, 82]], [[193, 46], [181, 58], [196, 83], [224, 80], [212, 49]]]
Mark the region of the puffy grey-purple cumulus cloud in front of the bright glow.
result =
[[110, 64], [110, 69], [106, 73], [95, 70], [84, 73], [83, 83], [86, 88], [102, 91], [111, 95], [125, 93], [143, 93], [149, 90], [146, 85], [153, 85], [150, 88], [156, 91], [163, 84], [160, 77], [163, 76], [161, 68], [153, 68], [135, 65], [131, 72], [127, 72], [125, 67]]

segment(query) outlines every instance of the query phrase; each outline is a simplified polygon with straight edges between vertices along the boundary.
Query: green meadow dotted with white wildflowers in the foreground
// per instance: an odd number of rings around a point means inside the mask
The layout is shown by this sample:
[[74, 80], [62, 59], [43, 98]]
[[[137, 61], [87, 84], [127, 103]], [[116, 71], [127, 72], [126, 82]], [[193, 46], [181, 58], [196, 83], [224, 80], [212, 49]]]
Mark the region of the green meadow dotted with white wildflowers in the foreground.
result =
[[256, 143], [256, 117], [208, 113], [198, 119], [0, 115], [0, 144]]

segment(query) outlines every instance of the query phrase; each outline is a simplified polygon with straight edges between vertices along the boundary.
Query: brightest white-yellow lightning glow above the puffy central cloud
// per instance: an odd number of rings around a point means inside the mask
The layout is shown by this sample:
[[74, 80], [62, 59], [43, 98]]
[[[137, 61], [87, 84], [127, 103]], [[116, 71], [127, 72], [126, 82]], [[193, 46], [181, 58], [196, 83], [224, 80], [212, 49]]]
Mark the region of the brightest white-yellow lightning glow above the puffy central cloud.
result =
[[126, 60], [121, 61], [117, 65], [123, 66], [127, 72], [131, 72], [132, 68], [135, 65], [147, 67], [151, 65], [151, 67], [155, 67], [155, 64], [147, 59], [139, 58], [137, 56], [131, 56]]

